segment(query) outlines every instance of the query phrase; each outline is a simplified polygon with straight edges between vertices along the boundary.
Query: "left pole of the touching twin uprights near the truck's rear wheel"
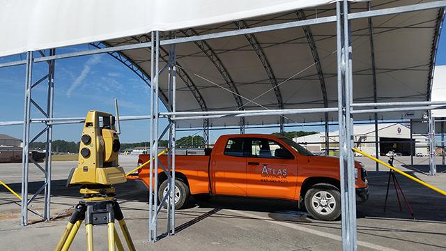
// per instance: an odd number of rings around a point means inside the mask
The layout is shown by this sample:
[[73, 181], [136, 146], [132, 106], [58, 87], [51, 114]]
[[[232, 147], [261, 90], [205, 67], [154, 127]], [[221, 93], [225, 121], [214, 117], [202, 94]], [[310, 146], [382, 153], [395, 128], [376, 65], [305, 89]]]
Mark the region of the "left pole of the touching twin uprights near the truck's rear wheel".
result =
[[[150, 148], [151, 148], [151, 160], [153, 160], [153, 82], [155, 82], [154, 77], [154, 68], [155, 68], [155, 40], [153, 36], [153, 31], [151, 32], [151, 126], [150, 126]], [[154, 229], [156, 229], [156, 222], [153, 222], [153, 161], [149, 162], [149, 169], [150, 169], [150, 184], [149, 184], [149, 191], [148, 191], [148, 240], [149, 242], [155, 242], [156, 235], [154, 235]], [[155, 198], [156, 200], [157, 198]], [[155, 208], [156, 212], [156, 208]]]

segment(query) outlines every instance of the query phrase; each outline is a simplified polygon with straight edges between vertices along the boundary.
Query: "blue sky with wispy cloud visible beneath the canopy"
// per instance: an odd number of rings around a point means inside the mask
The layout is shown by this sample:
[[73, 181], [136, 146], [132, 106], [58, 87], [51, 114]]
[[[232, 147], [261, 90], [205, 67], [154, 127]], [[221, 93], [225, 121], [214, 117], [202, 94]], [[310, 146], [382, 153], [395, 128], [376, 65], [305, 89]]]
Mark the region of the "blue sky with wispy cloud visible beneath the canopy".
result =
[[[446, 65], [446, 39], [440, 39], [436, 65]], [[57, 54], [88, 50], [88, 45], [79, 45], [57, 49]], [[0, 63], [26, 59], [26, 54], [0, 58]], [[48, 73], [47, 63], [35, 63], [33, 82]], [[23, 121], [25, 66], [0, 68], [0, 121]], [[121, 116], [150, 114], [150, 89], [137, 75], [108, 54], [80, 56], [56, 61], [54, 84], [54, 117], [84, 117], [89, 110], [100, 110], [114, 114], [114, 98], [118, 99]], [[47, 82], [32, 89], [32, 98], [46, 110]], [[160, 104], [162, 104], [160, 102]], [[163, 108], [162, 111], [165, 111]], [[36, 107], [31, 105], [31, 118], [43, 118]], [[160, 128], [167, 121], [160, 122]], [[43, 124], [31, 125], [31, 138], [43, 130]], [[53, 139], [79, 142], [83, 124], [61, 125], [53, 127]], [[149, 121], [122, 121], [121, 142], [148, 142]], [[323, 127], [312, 130], [321, 132]], [[309, 130], [309, 128], [287, 128], [286, 130]], [[337, 130], [333, 128], [332, 130]], [[247, 132], [271, 133], [279, 128], [247, 130]], [[178, 138], [192, 135], [197, 131], [178, 132]], [[222, 134], [238, 133], [238, 130], [211, 130], [210, 142]], [[23, 126], [0, 126], [0, 134], [17, 139], [23, 137]], [[203, 135], [198, 132], [197, 135]], [[40, 137], [36, 141], [45, 141]]]

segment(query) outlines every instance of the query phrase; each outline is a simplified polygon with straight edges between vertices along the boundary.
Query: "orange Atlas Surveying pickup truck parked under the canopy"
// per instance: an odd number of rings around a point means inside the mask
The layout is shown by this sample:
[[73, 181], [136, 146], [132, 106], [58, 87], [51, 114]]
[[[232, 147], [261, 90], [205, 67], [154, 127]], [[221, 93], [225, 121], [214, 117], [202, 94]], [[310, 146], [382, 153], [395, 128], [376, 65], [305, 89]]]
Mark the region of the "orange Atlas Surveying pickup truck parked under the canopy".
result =
[[[334, 220], [341, 213], [339, 158], [316, 156], [286, 137], [259, 134], [224, 135], [213, 149], [206, 149], [202, 155], [194, 153], [176, 155], [176, 208], [184, 206], [190, 195], [199, 200], [236, 195], [299, 201], [299, 206], [304, 204], [318, 220]], [[164, 167], [167, 158], [159, 157]], [[139, 155], [138, 163], [149, 159], [150, 155]], [[161, 168], [157, 173], [161, 200], [167, 192], [167, 176]], [[128, 178], [148, 188], [148, 165]], [[367, 172], [357, 161], [355, 187], [357, 203], [367, 201]]]

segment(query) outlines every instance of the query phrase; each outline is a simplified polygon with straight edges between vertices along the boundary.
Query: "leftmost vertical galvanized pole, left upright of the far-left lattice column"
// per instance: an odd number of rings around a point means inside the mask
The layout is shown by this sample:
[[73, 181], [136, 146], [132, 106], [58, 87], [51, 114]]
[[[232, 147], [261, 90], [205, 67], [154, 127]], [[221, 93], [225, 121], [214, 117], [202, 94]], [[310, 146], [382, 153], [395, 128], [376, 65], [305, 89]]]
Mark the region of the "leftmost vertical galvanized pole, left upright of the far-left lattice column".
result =
[[20, 225], [28, 225], [28, 174], [29, 174], [29, 127], [31, 118], [31, 82], [33, 77], [33, 52], [26, 52], [26, 81], [23, 118], [22, 149], [22, 218]]

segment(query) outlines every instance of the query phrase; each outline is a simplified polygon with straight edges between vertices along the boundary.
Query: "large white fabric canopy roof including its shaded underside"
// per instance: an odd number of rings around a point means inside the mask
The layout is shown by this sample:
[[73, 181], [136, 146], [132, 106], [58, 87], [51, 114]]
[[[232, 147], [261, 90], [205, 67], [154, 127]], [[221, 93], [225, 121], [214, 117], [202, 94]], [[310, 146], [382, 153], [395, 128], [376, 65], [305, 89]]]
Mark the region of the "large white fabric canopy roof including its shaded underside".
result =
[[[100, 4], [101, 1], [76, 1], [76, 5], [57, 1], [50, 10], [45, 8], [52, 6], [54, 1], [19, 2], [29, 3], [29, 6], [20, 9], [24, 7], [22, 4], [3, 1], [6, 8], [1, 12], [9, 14], [0, 15], [2, 34], [3, 31], [6, 35], [15, 34], [17, 30], [17, 26], [5, 27], [10, 20], [17, 22], [18, 17], [11, 14], [13, 11], [20, 10], [29, 19], [18, 26], [23, 33], [6, 36], [10, 38], [8, 44], [3, 40], [0, 42], [0, 56], [79, 43], [92, 43], [97, 47], [146, 43], [151, 41], [148, 32], [153, 30], [175, 31], [176, 38], [183, 38], [336, 15], [335, 1], [328, 0], [169, 1], [169, 8], [162, 1], [135, 0], [132, 3], [126, 1], [125, 5], [121, 1], [104, 4]], [[374, 0], [370, 2], [370, 9], [427, 2], [430, 1]], [[87, 4], [91, 6], [86, 8]], [[368, 9], [364, 1], [351, 5], [352, 13]], [[54, 15], [49, 17], [42, 13]], [[123, 13], [132, 18], [118, 18]], [[375, 90], [377, 102], [430, 100], [433, 63], [443, 16], [443, 8], [434, 8], [352, 20], [354, 102], [374, 102]], [[26, 23], [30, 20], [33, 22]], [[72, 20], [79, 22], [72, 24]], [[178, 43], [176, 110], [337, 108], [336, 33], [336, 22], [326, 22]], [[167, 39], [169, 33], [164, 35], [163, 39]], [[168, 60], [168, 52], [167, 46], [161, 48], [160, 68]], [[151, 48], [121, 51], [116, 57], [144, 79], [150, 79]], [[160, 98], [164, 104], [167, 104], [167, 90], [167, 74], [164, 73], [160, 75]], [[378, 119], [412, 119], [404, 114], [378, 113]], [[412, 114], [416, 118], [422, 116], [419, 111]], [[325, 120], [325, 114], [321, 112], [285, 116], [286, 123]], [[337, 121], [337, 112], [330, 112], [328, 119]], [[373, 114], [355, 114], [355, 120], [369, 119], [374, 119]], [[245, 118], [246, 125], [275, 123], [279, 123], [279, 115]], [[210, 124], [239, 125], [240, 118], [210, 119]], [[201, 127], [203, 121], [180, 121], [179, 125]]]

